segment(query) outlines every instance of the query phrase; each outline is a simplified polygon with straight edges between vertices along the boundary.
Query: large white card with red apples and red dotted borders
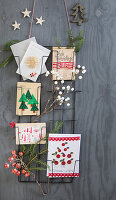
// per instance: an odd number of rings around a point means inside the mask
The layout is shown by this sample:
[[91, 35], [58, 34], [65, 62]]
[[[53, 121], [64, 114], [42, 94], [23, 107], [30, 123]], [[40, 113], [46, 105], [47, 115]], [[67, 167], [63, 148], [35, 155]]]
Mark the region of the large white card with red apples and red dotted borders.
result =
[[47, 176], [79, 177], [80, 134], [49, 134]]

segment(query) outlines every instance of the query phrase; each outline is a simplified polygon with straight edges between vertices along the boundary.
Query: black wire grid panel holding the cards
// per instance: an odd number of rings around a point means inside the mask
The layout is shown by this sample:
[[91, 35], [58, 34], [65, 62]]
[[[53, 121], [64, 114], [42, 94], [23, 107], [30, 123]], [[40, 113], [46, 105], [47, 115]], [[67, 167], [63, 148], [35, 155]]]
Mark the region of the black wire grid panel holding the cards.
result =
[[[52, 47], [47, 47], [51, 50], [51, 53], [50, 53], [50, 56], [48, 58], [48, 61], [46, 62], [46, 67], [48, 70], [51, 70], [51, 66], [52, 66]], [[16, 56], [18, 59], [19, 57]], [[57, 52], [57, 62], [58, 62], [58, 52]], [[74, 56], [73, 56], [73, 62], [74, 62]], [[42, 65], [43, 65], [43, 58], [42, 58], [42, 63], [41, 63], [41, 70], [42, 70]], [[73, 66], [72, 66], [73, 67]], [[20, 60], [19, 60], [19, 71], [20, 71]], [[21, 71], [20, 71], [21, 72]], [[20, 80], [22, 81], [22, 80]], [[41, 80], [41, 76], [39, 77], [39, 82], [42, 82]], [[70, 84], [71, 81], [65, 81], [65, 84]], [[64, 106], [64, 104], [60, 107], [56, 107], [56, 108], [53, 108], [53, 111], [52, 111], [52, 120], [49, 120], [47, 122], [47, 125], [49, 126], [49, 130], [53, 130], [54, 128], [54, 122], [56, 121], [55, 119], [55, 116], [56, 116], [56, 113], [57, 112], [60, 112], [61, 114], [61, 119], [60, 120], [57, 120], [57, 121], [63, 121], [64, 124], [63, 126], [61, 127], [61, 130], [59, 131], [59, 133], [61, 134], [67, 134], [67, 133], [70, 133], [70, 134], [76, 134], [76, 122], [77, 120], [75, 120], [75, 96], [78, 92], [81, 92], [81, 91], [78, 91], [78, 90], [75, 90], [75, 81], [72, 82], [72, 87], [74, 88], [74, 91], [72, 92], [72, 105], [71, 105], [71, 108], [67, 108]], [[54, 90], [54, 87], [52, 87], [50, 90], [48, 90], [48, 95], [50, 95], [50, 93], [52, 93], [52, 91]], [[22, 88], [21, 88], [21, 91], [22, 91]], [[54, 96], [53, 96], [53, 100], [54, 100]], [[41, 99], [42, 101], [42, 99]], [[41, 108], [40, 108], [41, 110]], [[71, 119], [65, 119], [65, 112], [71, 112]], [[20, 117], [19, 116], [19, 123], [20, 123]], [[30, 122], [31, 122], [31, 118], [30, 118]], [[69, 128], [70, 126], [70, 128]], [[68, 132], [70, 131], [70, 132]], [[37, 153], [39, 153], [40, 151], [42, 151], [42, 149], [45, 148], [45, 145], [37, 145], [37, 148], [36, 148], [36, 151]], [[18, 146], [18, 151], [20, 151], [20, 145]], [[39, 159], [47, 162], [47, 155], [40, 155], [38, 156]], [[75, 160], [75, 163], [74, 163], [74, 171], [73, 171], [73, 174], [75, 172], [75, 164], [76, 162], [79, 162], [79, 160]], [[36, 165], [38, 166], [38, 165]], [[40, 165], [38, 167], [41, 167]], [[53, 166], [52, 166], [52, 171], [53, 171]], [[47, 170], [46, 171], [35, 171], [35, 176], [36, 176], [36, 179], [38, 180], [39, 183], [48, 183], [48, 177], [47, 177]], [[72, 177], [58, 177], [58, 178], [50, 178], [49, 182], [50, 183], [72, 183], [73, 182], [73, 179], [74, 179], [74, 175]], [[33, 177], [29, 176], [28, 178], [25, 178], [24, 175], [20, 175], [18, 177], [18, 181], [19, 182], [35, 182], [35, 180], [33, 180]]]

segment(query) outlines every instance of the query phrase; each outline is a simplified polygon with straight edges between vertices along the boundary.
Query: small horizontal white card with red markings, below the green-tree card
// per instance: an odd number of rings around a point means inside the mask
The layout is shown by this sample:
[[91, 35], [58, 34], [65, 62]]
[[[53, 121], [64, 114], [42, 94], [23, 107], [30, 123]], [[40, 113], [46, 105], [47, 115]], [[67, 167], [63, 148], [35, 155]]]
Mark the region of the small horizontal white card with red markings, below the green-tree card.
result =
[[46, 123], [16, 123], [16, 144], [45, 144]]

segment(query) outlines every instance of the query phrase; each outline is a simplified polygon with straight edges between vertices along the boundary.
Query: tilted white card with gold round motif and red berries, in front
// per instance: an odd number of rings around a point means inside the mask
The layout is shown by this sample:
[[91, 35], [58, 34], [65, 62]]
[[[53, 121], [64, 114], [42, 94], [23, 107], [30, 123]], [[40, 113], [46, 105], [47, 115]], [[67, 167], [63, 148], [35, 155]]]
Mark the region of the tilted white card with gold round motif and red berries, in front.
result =
[[30, 42], [29, 47], [20, 63], [20, 74], [27, 79], [36, 82], [42, 72], [45, 62], [50, 54], [50, 50], [35, 43]]

